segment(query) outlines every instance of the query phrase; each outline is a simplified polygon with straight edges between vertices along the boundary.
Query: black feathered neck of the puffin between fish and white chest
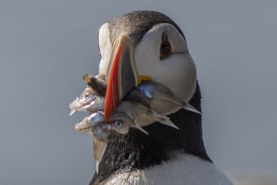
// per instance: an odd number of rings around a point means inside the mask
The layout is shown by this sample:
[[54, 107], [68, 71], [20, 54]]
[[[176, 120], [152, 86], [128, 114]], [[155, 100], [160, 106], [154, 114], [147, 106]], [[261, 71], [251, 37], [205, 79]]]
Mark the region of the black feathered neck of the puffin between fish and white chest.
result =
[[[190, 104], [201, 111], [198, 85]], [[170, 160], [173, 152], [211, 161], [202, 139], [202, 116], [180, 109], [171, 114], [170, 119], [180, 130], [154, 123], [143, 127], [149, 135], [136, 129], [129, 130], [126, 135], [114, 134], [99, 165], [98, 174], [94, 174], [91, 184], [99, 184], [117, 170], [126, 172], [159, 165]]]

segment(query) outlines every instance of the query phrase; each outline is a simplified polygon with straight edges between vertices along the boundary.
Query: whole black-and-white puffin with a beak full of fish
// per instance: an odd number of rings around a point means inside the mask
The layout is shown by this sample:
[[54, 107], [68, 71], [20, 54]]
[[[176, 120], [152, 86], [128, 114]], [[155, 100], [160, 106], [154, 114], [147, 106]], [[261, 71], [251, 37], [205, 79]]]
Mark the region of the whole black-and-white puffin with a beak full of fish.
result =
[[[195, 62], [186, 37], [170, 17], [138, 10], [111, 19], [98, 31], [99, 76], [107, 82], [107, 120], [142, 81], [161, 83], [199, 112], [201, 92]], [[100, 155], [93, 184], [233, 184], [208, 157], [202, 138], [202, 114], [169, 101], [152, 100], [155, 111], [170, 118], [178, 129], [158, 122], [114, 132]]]

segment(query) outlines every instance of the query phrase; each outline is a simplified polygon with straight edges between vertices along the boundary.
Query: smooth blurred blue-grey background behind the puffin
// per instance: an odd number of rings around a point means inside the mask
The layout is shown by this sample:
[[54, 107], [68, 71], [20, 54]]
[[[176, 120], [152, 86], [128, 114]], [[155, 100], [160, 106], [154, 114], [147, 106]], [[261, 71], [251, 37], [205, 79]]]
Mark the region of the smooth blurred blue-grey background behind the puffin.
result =
[[67, 105], [98, 71], [97, 30], [158, 10], [186, 35], [202, 88], [204, 141], [224, 171], [276, 172], [275, 1], [0, 1], [0, 184], [88, 184], [91, 136]]

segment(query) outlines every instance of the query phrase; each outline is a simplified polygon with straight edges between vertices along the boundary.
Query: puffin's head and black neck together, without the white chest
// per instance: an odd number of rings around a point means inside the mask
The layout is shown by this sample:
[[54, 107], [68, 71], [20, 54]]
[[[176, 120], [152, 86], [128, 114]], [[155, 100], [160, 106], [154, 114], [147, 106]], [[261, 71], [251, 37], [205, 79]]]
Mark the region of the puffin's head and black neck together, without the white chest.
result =
[[[179, 98], [201, 111], [201, 94], [195, 63], [184, 34], [168, 16], [155, 11], [134, 11], [103, 24], [98, 33], [99, 74], [105, 76], [105, 116], [111, 115], [127, 92], [141, 80], [166, 85]], [[167, 115], [179, 130], [152, 123], [149, 135], [130, 129], [114, 133], [107, 144], [91, 184], [98, 184], [118, 170], [150, 168], [176, 153], [211, 161], [202, 139], [202, 116], [167, 102], [154, 101], [154, 109]]]

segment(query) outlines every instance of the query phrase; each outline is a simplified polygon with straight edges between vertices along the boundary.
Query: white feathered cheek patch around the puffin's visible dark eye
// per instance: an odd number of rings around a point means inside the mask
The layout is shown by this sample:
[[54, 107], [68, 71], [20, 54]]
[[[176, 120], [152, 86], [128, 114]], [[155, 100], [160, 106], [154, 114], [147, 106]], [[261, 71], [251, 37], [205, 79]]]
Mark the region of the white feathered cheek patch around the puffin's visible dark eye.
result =
[[[162, 34], [166, 33], [172, 46], [172, 55], [159, 59]], [[196, 68], [188, 53], [184, 37], [171, 24], [158, 24], [150, 29], [136, 46], [134, 52], [139, 75], [151, 76], [170, 88], [183, 100], [193, 96], [196, 86]]]

